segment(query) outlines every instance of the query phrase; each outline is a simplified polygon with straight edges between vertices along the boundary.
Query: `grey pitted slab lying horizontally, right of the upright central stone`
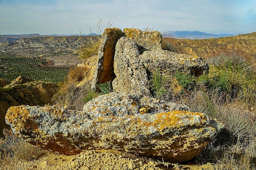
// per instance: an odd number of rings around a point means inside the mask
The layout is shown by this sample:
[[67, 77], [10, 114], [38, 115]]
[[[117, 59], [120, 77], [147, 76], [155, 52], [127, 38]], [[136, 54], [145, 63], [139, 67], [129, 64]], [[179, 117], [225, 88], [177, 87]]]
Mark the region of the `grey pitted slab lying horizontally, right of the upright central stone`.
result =
[[208, 74], [209, 65], [200, 57], [177, 54], [167, 50], [144, 51], [141, 62], [152, 73], [159, 69], [161, 74], [174, 73], [179, 70], [186, 74], [200, 76]]

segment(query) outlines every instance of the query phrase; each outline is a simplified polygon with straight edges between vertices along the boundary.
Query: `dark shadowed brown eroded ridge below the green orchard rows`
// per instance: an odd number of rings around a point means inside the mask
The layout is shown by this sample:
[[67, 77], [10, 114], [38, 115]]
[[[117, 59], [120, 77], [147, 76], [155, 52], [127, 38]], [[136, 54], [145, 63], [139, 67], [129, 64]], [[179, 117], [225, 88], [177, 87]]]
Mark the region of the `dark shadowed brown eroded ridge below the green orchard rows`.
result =
[[11, 87], [0, 88], [0, 136], [2, 136], [4, 128], [9, 128], [9, 125], [4, 121], [4, 116], [9, 107], [22, 104], [52, 104], [51, 99], [57, 89], [57, 85], [42, 82], [16, 84], [15, 86], [13, 84]]

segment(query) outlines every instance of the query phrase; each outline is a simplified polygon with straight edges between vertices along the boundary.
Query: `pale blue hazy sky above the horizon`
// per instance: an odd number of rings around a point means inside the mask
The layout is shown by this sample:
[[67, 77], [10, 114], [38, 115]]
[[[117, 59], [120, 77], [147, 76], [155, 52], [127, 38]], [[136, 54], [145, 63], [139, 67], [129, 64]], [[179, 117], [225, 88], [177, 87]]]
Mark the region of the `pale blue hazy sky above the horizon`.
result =
[[[97, 23], [101, 21], [100, 29]], [[109, 23], [109, 24], [108, 24]], [[102, 34], [106, 27], [248, 34], [255, 0], [0, 0], [0, 35]], [[91, 30], [91, 31], [90, 31]], [[100, 31], [101, 30], [101, 31]]]

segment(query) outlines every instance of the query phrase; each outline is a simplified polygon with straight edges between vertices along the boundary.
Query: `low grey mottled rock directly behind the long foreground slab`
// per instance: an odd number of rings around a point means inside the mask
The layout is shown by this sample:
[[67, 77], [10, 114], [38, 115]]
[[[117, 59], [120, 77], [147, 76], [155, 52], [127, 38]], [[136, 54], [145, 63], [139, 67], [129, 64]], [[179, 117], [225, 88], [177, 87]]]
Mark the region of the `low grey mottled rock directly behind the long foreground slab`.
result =
[[155, 114], [175, 110], [190, 110], [183, 104], [167, 103], [155, 98], [142, 96], [141, 94], [126, 94], [112, 92], [101, 95], [88, 101], [83, 111], [90, 118], [95, 119], [101, 116], [131, 116], [135, 114]]

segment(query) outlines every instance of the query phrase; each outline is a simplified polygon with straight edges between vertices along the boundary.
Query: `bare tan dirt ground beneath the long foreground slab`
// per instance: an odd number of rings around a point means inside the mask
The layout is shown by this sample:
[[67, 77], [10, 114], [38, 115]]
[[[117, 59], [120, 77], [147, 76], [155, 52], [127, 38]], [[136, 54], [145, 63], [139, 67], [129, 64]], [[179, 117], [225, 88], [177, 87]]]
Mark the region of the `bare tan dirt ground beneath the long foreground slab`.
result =
[[34, 161], [2, 162], [0, 170], [218, 170], [211, 163], [205, 165], [173, 164], [113, 150], [84, 151], [65, 156], [48, 153]]

